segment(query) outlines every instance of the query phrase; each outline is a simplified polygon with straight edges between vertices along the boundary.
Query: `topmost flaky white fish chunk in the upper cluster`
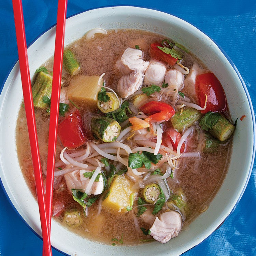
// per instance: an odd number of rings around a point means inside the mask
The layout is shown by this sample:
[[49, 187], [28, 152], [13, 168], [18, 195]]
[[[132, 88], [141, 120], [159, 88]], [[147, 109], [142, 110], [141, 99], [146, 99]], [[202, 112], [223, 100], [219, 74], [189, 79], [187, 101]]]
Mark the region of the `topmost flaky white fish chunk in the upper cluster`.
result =
[[133, 70], [140, 70], [144, 73], [149, 64], [149, 61], [143, 60], [143, 52], [141, 50], [128, 47], [124, 51], [121, 60], [117, 61], [116, 67], [127, 75]]

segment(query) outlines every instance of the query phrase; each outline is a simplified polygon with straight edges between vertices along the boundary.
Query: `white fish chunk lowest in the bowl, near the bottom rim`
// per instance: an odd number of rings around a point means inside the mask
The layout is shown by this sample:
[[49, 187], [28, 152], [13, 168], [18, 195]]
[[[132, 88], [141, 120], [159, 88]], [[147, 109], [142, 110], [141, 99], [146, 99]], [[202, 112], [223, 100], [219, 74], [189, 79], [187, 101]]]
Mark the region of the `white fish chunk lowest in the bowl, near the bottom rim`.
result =
[[178, 212], [168, 211], [156, 217], [150, 235], [160, 243], [166, 243], [171, 238], [179, 235], [182, 228], [182, 218]]

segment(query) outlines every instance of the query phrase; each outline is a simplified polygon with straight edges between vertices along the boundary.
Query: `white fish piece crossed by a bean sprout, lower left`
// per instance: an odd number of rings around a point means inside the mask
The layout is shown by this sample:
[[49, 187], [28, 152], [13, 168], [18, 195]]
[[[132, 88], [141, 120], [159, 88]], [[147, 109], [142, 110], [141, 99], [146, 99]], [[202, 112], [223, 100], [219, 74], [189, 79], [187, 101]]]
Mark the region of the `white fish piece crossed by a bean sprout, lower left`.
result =
[[[90, 172], [90, 171], [75, 170], [64, 175], [66, 184], [70, 193], [72, 193], [71, 191], [72, 188], [81, 189], [81, 190], [85, 190], [87, 188], [87, 185], [90, 179], [84, 176], [85, 172]], [[90, 193], [88, 195], [91, 195], [91, 194], [99, 195], [103, 192], [103, 189], [104, 189], [103, 178], [102, 178], [102, 175], [100, 175], [99, 181], [95, 181], [93, 183], [93, 186], [91, 187]]]

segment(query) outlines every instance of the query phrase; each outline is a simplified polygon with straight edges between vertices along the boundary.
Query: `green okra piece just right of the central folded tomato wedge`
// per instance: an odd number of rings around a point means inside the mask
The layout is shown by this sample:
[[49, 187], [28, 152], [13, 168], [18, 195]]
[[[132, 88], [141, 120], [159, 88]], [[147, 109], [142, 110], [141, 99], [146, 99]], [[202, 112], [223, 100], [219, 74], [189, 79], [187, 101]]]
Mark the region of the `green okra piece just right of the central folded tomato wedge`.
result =
[[177, 111], [171, 121], [174, 129], [182, 133], [198, 121], [200, 117], [201, 112], [196, 109], [183, 109], [183, 111]]

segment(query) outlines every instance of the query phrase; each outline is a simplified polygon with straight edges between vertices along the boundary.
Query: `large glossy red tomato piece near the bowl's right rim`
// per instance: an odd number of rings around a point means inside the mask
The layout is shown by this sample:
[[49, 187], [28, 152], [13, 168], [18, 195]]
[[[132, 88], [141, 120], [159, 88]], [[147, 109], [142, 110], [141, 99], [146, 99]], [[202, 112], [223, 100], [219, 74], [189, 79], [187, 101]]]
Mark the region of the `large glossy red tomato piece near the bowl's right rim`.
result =
[[205, 95], [207, 95], [206, 109], [201, 113], [208, 111], [224, 111], [227, 105], [226, 95], [221, 83], [213, 73], [204, 73], [196, 77], [196, 90], [199, 105], [203, 108], [205, 104]]

